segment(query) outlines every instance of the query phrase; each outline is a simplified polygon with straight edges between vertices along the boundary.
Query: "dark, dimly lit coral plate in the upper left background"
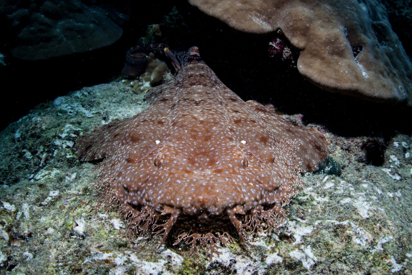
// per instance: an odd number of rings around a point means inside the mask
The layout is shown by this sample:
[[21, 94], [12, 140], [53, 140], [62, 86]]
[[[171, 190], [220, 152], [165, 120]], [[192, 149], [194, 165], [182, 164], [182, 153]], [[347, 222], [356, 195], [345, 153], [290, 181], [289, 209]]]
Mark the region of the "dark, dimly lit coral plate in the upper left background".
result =
[[7, 33], [17, 33], [11, 40], [11, 53], [27, 60], [89, 51], [116, 42], [123, 33], [119, 25], [128, 18], [116, 10], [115, 5], [104, 9], [78, 0], [6, 1], [0, 6], [10, 25]]

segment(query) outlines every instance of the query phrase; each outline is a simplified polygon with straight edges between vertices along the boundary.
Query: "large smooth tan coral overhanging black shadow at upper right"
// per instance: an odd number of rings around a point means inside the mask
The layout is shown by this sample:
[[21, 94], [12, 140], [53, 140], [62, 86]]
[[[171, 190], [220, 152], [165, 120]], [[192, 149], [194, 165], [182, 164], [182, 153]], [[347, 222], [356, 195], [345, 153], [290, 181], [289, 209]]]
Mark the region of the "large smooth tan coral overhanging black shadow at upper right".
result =
[[237, 30], [281, 29], [300, 51], [300, 74], [322, 89], [412, 105], [411, 62], [376, 0], [189, 2]]

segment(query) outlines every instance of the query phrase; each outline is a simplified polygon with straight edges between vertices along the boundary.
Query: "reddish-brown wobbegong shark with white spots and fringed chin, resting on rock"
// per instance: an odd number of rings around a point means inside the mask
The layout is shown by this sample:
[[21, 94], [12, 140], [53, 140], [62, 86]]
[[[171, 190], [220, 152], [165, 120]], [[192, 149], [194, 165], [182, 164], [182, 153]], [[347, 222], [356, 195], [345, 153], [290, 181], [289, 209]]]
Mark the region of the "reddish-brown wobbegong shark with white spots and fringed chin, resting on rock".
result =
[[[98, 207], [116, 205], [129, 236], [176, 230], [197, 253], [245, 233], [276, 231], [296, 195], [298, 177], [328, 155], [326, 138], [291, 124], [228, 89], [199, 56], [178, 55], [177, 75], [152, 88], [152, 105], [77, 139], [81, 161], [106, 158]], [[175, 66], [176, 67], [176, 66]], [[232, 226], [233, 225], [233, 226]]]

